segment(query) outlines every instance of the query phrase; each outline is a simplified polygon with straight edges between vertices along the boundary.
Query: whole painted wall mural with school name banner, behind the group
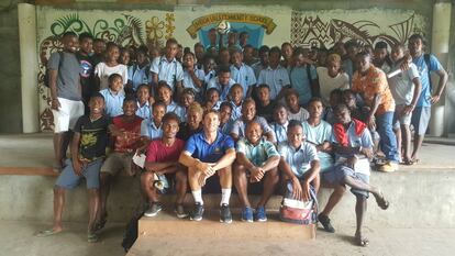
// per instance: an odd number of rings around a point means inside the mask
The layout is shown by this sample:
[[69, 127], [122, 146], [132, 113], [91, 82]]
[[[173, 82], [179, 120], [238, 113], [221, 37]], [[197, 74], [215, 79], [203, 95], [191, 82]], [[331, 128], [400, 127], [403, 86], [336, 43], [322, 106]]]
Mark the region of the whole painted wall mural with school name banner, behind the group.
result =
[[40, 122], [42, 131], [53, 130], [48, 89], [43, 85], [48, 56], [62, 48], [58, 36], [66, 31], [88, 32], [95, 37], [126, 45], [160, 45], [175, 37], [184, 46], [196, 42], [209, 44], [207, 33], [221, 20], [231, 22], [232, 30], [247, 31], [247, 43], [279, 46], [331, 47], [339, 41], [356, 38], [373, 45], [379, 40], [404, 42], [410, 33], [426, 32], [426, 20], [413, 11], [384, 9], [295, 11], [286, 5], [213, 5], [176, 7], [171, 11], [67, 10], [37, 7], [37, 49], [40, 74]]

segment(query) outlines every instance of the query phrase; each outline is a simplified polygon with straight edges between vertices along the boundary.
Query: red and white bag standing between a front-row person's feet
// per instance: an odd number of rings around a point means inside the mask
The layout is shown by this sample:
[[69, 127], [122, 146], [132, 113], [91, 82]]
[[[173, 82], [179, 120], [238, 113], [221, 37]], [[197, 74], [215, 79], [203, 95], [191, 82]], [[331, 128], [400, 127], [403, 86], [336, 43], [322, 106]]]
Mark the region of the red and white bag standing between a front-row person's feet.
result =
[[279, 209], [279, 219], [284, 222], [301, 225], [315, 224], [318, 223], [318, 199], [312, 186], [310, 186], [310, 200], [302, 201], [292, 197], [292, 182], [288, 181]]

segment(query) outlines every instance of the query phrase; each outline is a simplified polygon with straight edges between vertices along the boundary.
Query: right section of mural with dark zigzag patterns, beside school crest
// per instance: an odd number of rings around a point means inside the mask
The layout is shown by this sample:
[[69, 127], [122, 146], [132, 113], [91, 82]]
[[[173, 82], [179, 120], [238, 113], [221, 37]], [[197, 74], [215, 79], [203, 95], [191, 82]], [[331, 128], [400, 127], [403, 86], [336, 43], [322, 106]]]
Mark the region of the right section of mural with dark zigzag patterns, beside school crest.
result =
[[[366, 19], [368, 18], [368, 19]], [[363, 45], [385, 41], [404, 43], [413, 33], [426, 31], [426, 21], [412, 11], [332, 10], [291, 13], [291, 44], [332, 47], [336, 42], [356, 40]]]

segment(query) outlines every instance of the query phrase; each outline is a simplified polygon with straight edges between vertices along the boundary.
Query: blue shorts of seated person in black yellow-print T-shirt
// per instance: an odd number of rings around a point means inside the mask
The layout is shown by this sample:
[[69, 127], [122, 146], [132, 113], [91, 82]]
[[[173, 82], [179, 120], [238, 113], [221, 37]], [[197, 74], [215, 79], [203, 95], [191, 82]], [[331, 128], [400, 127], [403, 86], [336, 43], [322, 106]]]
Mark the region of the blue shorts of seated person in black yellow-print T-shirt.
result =
[[102, 166], [102, 158], [96, 159], [87, 164], [82, 169], [82, 176], [77, 176], [73, 168], [73, 160], [66, 160], [66, 167], [58, 176], [56, 186], [65, 189], [76, 188], [82, 178], [86, 178], [87, 189], [98, 189], [100, 187], [100, 169]]

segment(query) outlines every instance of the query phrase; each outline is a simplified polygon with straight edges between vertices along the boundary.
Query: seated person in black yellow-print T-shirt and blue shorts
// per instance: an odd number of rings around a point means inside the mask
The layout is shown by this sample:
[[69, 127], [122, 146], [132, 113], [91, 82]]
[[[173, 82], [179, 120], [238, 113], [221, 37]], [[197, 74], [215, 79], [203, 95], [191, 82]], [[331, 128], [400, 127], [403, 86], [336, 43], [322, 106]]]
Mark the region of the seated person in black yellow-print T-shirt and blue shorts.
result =
[[106, 157], [108, 145], [108, 129], [111, 119], [103, 115], [104, 98], [101, 93], [95, 93], [89, 100], [90, 114], [78, 119], [71, 142], [71, 159], [58, 176], [54, 187], [54, 225], [51, 230], [42, 231], [37, 236], [49, 236], [63, 231], [62, 214], [65, 203], [65, 193], [68, 189], [76, 188], [82, 178], [86, 178], [89, 193], [89, 243], [98, 242], [95, 233], [95, 222], [99, 204], [99, 176], [102, 160]]

